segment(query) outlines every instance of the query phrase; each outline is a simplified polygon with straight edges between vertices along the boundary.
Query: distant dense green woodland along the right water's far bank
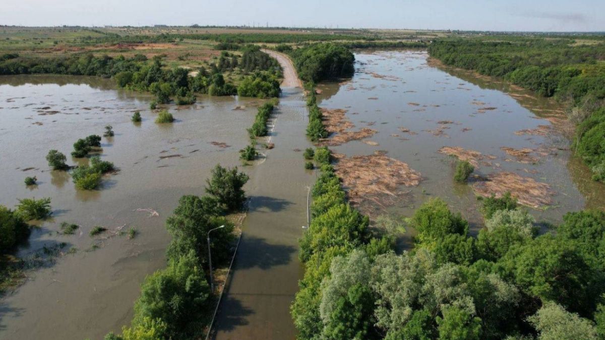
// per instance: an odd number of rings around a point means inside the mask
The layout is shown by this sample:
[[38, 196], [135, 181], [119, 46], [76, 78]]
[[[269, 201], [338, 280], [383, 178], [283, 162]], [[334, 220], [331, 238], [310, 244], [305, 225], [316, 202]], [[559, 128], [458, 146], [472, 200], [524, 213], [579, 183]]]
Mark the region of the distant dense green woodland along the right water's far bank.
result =
[[571, 39], [441, 39], [428, 48], [446, 65], [506, 80], [569, 106], [574, 151], [605, 180], [605, 43]]

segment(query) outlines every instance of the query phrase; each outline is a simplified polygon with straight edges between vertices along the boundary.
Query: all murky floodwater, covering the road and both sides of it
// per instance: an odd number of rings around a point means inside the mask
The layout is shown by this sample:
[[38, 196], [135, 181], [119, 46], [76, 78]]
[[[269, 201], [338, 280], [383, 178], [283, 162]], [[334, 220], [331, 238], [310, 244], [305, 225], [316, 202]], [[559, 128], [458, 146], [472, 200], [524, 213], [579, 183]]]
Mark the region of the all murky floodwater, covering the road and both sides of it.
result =
[[[429, 67], [424, 52], [360, 52], [356, 59], [353, 79], [322, 85], [318, 98], [322, 107], [348, 110], [356, 129], [371, 124], [378, 130], [367, 139], [378, 145], [352, 141], [333, 147], [335, 152], [384, 150], [422, 173], [420, 185], [405, 188], [409, 193], [387, 212], [409, 216], [423, 201], [439, 196], [471, 220], [474, 232], [479, 229], [475, 194], [468, 185], [454, 183], [451, 157], [437, 152], [442, 146], [497, 156], [491, 162], [499, 166], [481, 166], [482, 175], [513, 171], [551, 185], [555, 203], [545, 210], [529, 209], [540, 220], [557, 223], [567, 211], [605, 206], [604, 186], [591, 181], [588, 169], [565, 151], [569, 146], [565, 136], [514, 133], [550, 125], [544, 113], [560, 110], [556, 103], [530, 93], [515, 99], [507, 94], [511, 88], [505, 83]], [[155, 114], [148, 109], [151, 99], [116, 90], [113, 82], [99, 78], [0, 78], [0, 204], [11, 207], [17, 198], [51, 197], [53, 206], [53, 219], [34, 230], [20, 252], [27, 255], [58, 242], [68, 243], [66, 250], [79, 249], [30, 272], [27, 283], [0, 300], [0, 338], [100, 339], [110, 330], [119, 331], [130, 322], [145, 275], [165, 267], [169, 237], [163, 223], [178, 198], [202, 194], [216, 163], [240, 165], [237, 151], [248, 143], [245, 129], [260, 100], [201, 97], [193, 106], [171, 106], [174, 124], [156, 125]], [[495, 110], [478, 112], [480, 106], [473, 102]], [[238, 105], [246, 108], [233, 110]], [[140, 125], [130, 122], [135, 110], [141, 111]], [[304, 137], [306, 114], [301, 90], [284, 89], [273, 119], [275, 148], [265, 152], [263, 162], [244, 168], [250, 174], [246, 190], [252, 200], [215, 324], [217, 339], [295, 337], [288, 307], [302, 275], [296, 239], [306, 224], [306, 194], [315, 176], [303, 169], [301, 153], [292, 150], [309, 146]], [[446, 136], [425, 131], [438, 128], [440, 120], [454, 122], [445, 129]], [[104, 178], [100, 190], [77, 191], [68, 175], [48, 168], [44, 157], [49, 149], [69, 154], [76, 139], [102, 134], [107, 124], [113, 125], [116, 136], [103, 138], [102, 159], [114, 162], [120, 171]], [[408, 136], [400, 126], [417, 134]], [[510, 157], [502, 146], [563, 150], [524, 164], [507, 162]], [[68, 163], [79, 162], [68, 156]], [[33, 169], [23, 171], [27, 168]], [[26, 188], [23, 180], [32, 175], [39, 184]], [[155, 209], [159, 217], [137, 208]], [[82, 234], [57, 235], [62, 221], [80, 224]], [[134, 226], [140, 234], [133, 240], [93, 239], [88, 232], [96, 225], [110, 230]], [[413, 234], [408, 230], [404, 246]], [[93, 242], [100, 248], [86, 252]]]

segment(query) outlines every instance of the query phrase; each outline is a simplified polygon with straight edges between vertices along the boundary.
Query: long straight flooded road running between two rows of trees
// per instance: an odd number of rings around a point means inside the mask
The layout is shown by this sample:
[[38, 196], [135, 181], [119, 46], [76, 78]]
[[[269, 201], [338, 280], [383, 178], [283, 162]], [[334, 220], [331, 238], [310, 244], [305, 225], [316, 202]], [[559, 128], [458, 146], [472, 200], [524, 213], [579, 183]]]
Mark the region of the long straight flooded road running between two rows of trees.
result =
[[250, 176], [249, 213], [214, 324], [218, 340], [296, 337], [289, 307], [302, 277], [298, 238], [307, 224], [307, 190], [315, 177], [304, 169], [301, 152], [293, 152], [310, 146], [304, 97], [295, 88], [300, 81], [286, 56], [269, 54], [284, 68], [270, 133], [275, 148]]

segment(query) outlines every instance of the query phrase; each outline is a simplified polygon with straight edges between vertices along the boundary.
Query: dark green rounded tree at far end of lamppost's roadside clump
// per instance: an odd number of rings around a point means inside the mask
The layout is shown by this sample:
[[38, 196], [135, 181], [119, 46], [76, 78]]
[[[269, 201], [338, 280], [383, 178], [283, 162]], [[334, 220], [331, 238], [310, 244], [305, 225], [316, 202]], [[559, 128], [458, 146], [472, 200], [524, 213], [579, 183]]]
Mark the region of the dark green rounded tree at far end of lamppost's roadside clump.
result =
[[242, 189], [249, 180], [248, 175], [235, 168], [223, 168], [217, 165], [212, 169], [212, 178], [206, 180], [206, 192], [218, 198], [229, 211], [241, 210], [246, 201], [246, 192]]

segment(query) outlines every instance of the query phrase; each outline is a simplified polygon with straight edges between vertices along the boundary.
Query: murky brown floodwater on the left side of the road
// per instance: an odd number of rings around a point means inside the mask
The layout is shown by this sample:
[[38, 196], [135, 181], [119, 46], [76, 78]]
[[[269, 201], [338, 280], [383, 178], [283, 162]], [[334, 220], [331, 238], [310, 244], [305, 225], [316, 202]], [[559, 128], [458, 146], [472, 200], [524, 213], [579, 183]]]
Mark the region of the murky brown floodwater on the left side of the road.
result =
[[[111, 80], [100, 78], [0, 77], [0, 204], [50, 197], [53, 207], [53, 218], [33, 230], [20, 254], [67, 243], [54, 264], [28, 272], [27, 282], [0, 300], [0, 338], [100, 339], [119, 331], [131, 319], [143, 278], [165, 267], [169, 237], [163, 224], [178, 198], [203, 194], [217, 163], [240, 165], [238, 150], [249, 142], [245, 129], [260, 100], [200, 97], [192, 106], [169, 107], [176, 122], [157, 125], [151, 99], [116, 90]], [[135, 110], [142, 123], [131, 122]], [[78, 191], [68, 174], [51, 171], [45, 160], [49, 149], [68, 155], [68, 164], [79, 164], [69, 156], [73, 143], [102, 135], [108, 124], [116, 136], [103, 138], [101, 159], [119, 171], [103, 178], [102, 188]], [[34, 175], [38, 186], [27, 188], [24, 178]], [[59, 235], [62, 221], [80, 229]], [[92, 238], [93, 226], [110, 231]], [[139, 230], [136, 238], [117, 235], [129, 227]], [[65, 253], [70, 249], [76, 252]]]

